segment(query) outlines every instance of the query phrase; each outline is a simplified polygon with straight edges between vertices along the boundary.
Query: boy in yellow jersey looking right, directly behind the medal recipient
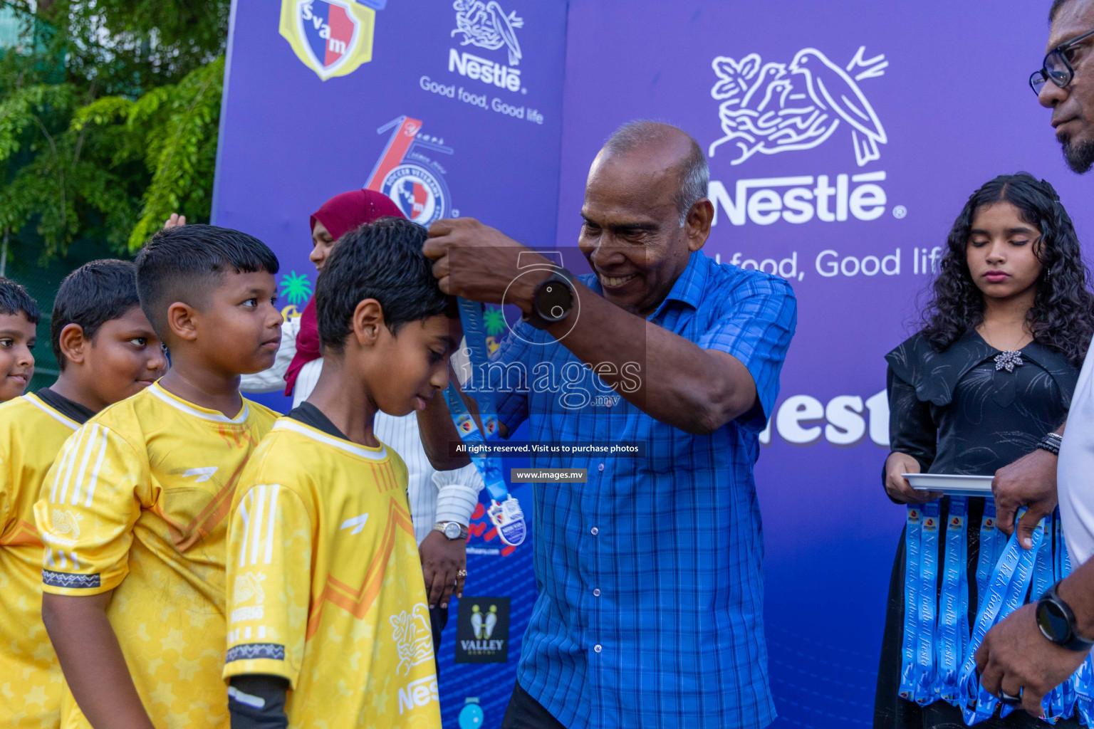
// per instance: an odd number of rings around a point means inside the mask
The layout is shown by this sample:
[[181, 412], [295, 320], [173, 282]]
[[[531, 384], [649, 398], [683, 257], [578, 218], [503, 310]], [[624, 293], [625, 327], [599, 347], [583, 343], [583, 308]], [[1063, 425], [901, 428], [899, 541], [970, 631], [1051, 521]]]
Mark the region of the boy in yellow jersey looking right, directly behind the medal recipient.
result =
[[35, 504], [66, 729], [229, 726], [225, 517], [276, 419], [238, 381], [277, 354], [277, 270], [260, 240], [211, 225], [161, 231], [137, 257], [172, 367], [77, 431]]

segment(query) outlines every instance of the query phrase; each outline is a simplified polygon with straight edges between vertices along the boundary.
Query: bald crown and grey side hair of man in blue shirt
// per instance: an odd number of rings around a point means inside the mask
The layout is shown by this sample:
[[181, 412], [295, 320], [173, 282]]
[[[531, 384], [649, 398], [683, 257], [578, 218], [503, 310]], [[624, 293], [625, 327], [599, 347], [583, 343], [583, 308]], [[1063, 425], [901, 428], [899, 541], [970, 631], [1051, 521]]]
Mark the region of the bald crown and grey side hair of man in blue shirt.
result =
[[673, 201], [683, 226], [691, 205], [707, 197], [710, 169], [702, 148], [690, 134], [672, 125], [630, 121], [612, 132], [597, 155], [597, 162], [638, 154], [649, 157], [653, 168], [659, 164], [675, 167], [678, 181]]

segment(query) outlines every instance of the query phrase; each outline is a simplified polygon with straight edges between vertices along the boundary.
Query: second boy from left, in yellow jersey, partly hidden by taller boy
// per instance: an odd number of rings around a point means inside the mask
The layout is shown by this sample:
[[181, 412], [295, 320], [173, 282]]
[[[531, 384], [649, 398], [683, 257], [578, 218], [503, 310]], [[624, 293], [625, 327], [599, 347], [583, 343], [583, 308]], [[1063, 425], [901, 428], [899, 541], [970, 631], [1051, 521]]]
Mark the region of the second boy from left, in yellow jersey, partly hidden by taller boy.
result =
[[[0, 727], [60, 725], [63, 679], [42, 624], [42, 540], [34, 503], [65, 440], [89, 418], [155, 381], [167, 366], [137, 298], [132, 262], [70, 273], [49, 320], [60, 376], [0, 407]], [[70, 532], [80, 521], [58, 529]]]

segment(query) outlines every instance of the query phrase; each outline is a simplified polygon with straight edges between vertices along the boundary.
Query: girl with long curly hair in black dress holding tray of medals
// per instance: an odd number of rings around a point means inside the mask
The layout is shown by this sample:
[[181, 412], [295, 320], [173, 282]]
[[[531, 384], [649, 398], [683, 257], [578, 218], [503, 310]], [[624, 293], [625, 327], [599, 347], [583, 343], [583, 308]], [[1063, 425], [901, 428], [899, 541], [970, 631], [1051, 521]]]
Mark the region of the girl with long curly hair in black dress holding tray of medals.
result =
[[[883, 481], [898, 504], [933, 501], [903, 473], [992, 475], [1064, 420], [1094, 332], [1071, 219], [1052, 186], [1003, 175], [973, 193], [954, 222], [922, 328], [889, 352], [889, 439]], [[941, 525], [948, 499], [942, 499]], [[979, 556], [985, 498], [968, 499], [968, 574]], [[944, 531], [939, 543], [944, 544]], [[876, 728], [963, 727], [959, 708], [898, 696], [904, 634], [904, 537], [889, 584]], [[969, 625], [976, 580], [969, 579]], [[978, 727], [1047, 726], [1025, 712]], [[1074, 719], [1057, 726], [1078, 726]]]

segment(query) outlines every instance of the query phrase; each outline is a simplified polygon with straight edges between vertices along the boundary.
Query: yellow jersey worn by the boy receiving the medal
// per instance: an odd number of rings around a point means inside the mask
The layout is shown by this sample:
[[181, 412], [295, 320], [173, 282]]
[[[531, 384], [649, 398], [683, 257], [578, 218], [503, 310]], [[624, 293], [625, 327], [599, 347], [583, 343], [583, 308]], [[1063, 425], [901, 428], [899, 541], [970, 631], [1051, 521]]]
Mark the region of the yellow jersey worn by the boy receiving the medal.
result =
[[282, 418], [244, 471], [224, 677], [288, 679], [290, 727], [439, 728], [406, 465], [334, 433]]

